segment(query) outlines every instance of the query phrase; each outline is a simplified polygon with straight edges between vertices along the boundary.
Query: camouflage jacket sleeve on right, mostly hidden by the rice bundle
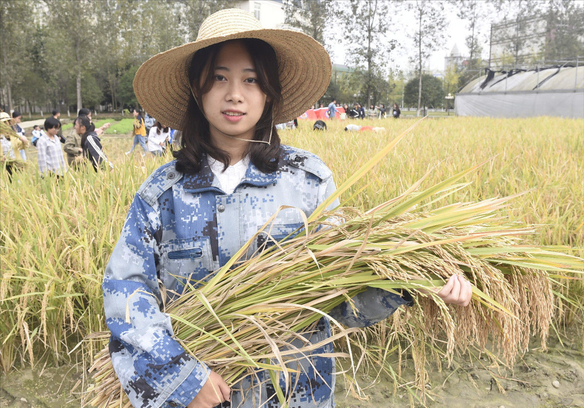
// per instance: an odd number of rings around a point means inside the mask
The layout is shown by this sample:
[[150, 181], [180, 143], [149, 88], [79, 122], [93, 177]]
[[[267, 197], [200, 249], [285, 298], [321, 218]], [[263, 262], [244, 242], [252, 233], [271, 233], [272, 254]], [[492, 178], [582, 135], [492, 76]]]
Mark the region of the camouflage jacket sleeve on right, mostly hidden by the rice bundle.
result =
[[[326, 182], [326, 183], [325, 183]], [[332, 177], [323, 180], [321, 200], [325, 200], [335, 191], [335, 183]], [[319, 201], [321, 201], [319, 200]], [[339, 200], [335, 200], [328, 209], [331, 210], [339, 205]], [[387, 319], [401, 305], [413, 305], [413, 299], [409, 292], [402, 292], [402, 295], [384, 291], [378, 288], [369, 288], [352, 299], [353, 306], [349, 302], [343, 302], [336, 306], [329, 315], [342, 325], [347, 327], [367, 327]]]

